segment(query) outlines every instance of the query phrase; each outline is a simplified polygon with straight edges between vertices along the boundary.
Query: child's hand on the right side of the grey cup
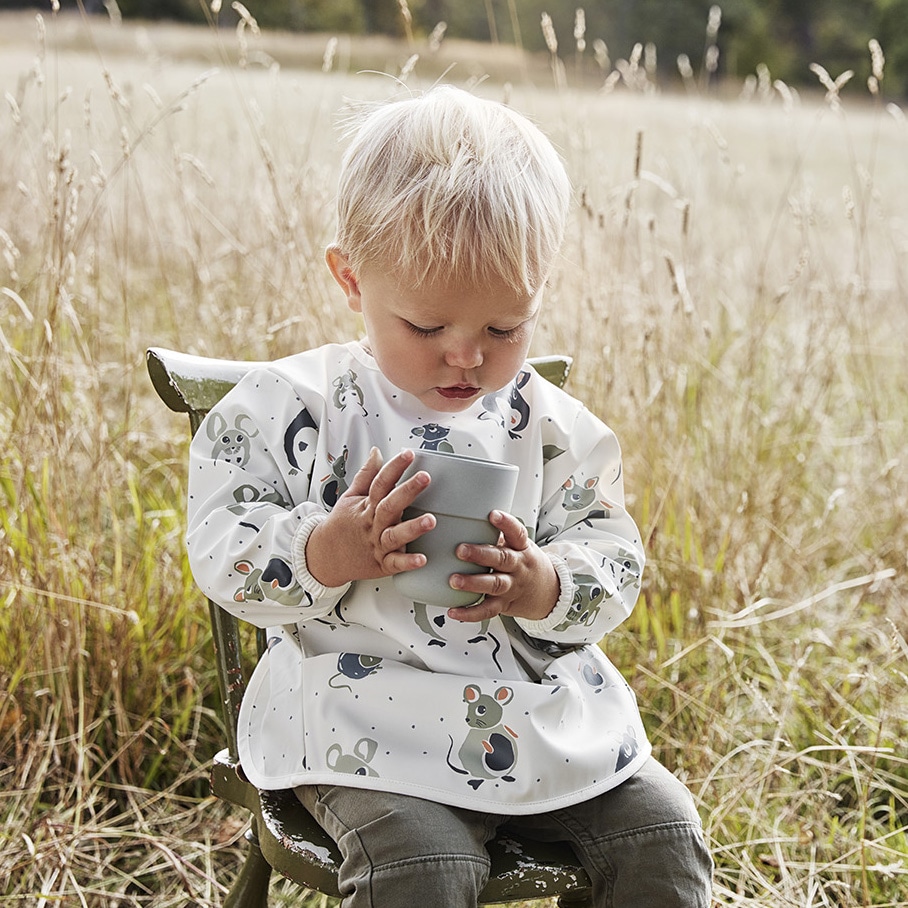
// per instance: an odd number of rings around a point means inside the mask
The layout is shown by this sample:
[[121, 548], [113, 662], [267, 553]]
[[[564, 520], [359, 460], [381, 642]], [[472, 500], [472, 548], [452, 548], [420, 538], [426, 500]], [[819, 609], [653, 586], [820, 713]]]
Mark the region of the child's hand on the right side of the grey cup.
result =
[[450, 580], [454, 589], [484, 593], [486, 598], [479, 605], [450, 609], [448, 616], [458, 621], [484, 621], [495, 615], [542, 620], [555, 607], [561, 590], [555, 566], [515, 517], [492, 511], [489, 520], [501, 531], [499, 544], [464, 544], [458, 546], [457, 557], [492, 568], [492, 573], [452, 574]]

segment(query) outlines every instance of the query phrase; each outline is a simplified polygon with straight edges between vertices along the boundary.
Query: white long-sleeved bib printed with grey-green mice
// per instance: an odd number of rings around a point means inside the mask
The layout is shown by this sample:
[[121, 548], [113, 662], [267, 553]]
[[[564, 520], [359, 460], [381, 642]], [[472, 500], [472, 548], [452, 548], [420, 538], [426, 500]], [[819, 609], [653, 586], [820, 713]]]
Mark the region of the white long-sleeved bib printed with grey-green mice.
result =
[[[318, 583], [305, 540], [373, 446], [516, 464], [513, 514], [561, 583], [552, 613], [461, 623], [390, 578]], [[260, 788], [539, 813], [618, 785], [649, 755], [633, 692], [597, 645], [633, 608], [644, 560], [619, 446], [529, 365], [459, 413], [428, 410], [357, 343], [251, 373], [193, 440], [188, 546], [202, 590], [268, 628], [238, 728]]]

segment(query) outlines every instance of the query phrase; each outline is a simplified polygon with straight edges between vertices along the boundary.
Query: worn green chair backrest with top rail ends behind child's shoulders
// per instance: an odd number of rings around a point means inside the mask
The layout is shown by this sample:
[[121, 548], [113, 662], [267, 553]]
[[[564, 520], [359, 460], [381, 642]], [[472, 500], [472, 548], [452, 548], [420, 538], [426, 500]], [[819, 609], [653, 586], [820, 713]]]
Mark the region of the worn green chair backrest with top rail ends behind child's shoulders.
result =
[[[189, 417], [194, 435], [208, 411], [247, 373], [267, 366], [254, 360], [213, 359], [176, 350], [151, 347], [146, 354], [148, 374], [158, 396], [173, 411]], [[533, 368], [558, 387], [567, 381], [572, 360], [569, 356], [540, 356], [530, 359]], [[238, 620], [208, 600], [214, 638], [218, 683], [221, 691], [227, 749], [237, 759], [236, 727], [240, 701], [246, 687], [242, 667], [242, 644]], [[256, 635], [259, 655], [265, 632]]]

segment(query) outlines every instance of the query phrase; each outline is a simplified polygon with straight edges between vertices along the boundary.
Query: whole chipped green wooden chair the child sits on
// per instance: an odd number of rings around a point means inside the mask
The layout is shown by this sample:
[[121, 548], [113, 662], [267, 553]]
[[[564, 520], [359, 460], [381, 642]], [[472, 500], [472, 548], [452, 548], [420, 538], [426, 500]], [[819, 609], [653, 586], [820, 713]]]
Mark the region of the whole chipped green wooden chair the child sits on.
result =
[[[571, 360], [542, 357], [531, 360], [545, 378], [561, 386]], [[189, 416], [194, 434], [208, 410], [256, 362], [210, 359], [152, 348], [148, 373], [161, 400]], [[250, 826], [248, 853], [225, 908], [267, 908], [272, 870], [301, 886], [339, 896], [340, 854], [332, 839], [299, 803], [292, 791], [261, 791], [243, 775], [237, 759], [236, 727], [246, 680], [242, 668], [239, 623], [209, 600], [215, 659], [221, 693], [226, 747], [213, 760], [211, 789], [219, 798], [246, 808]], [[264, 631], [258, 631], [259, 655]], [[590, 881], [567, 845], [545, 844], [502, 834], [490, 843], [492, 873], [482, 892], [483, 905], [558, 896], [561, 908], [589, 906]]]

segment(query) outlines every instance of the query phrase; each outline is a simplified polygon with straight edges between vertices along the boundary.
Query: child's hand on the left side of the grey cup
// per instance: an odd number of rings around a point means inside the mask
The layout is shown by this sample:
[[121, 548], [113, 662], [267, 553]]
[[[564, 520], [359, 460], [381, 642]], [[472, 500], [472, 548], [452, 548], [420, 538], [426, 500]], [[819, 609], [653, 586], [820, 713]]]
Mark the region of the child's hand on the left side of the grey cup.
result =
[[408, 554], [404, 548], [435, 527], [431, 514], [401, 520], [404, 509], [430, 482], [429, 474], [420, 471], [398, 485], [413, 457], [413, 451], [404, 450], [383, 465], [378, 448], [369, 452], [350, 487], [309, 536], [306, 564], [319, 583], [343, 586], [426, 563], [425, 555]]

